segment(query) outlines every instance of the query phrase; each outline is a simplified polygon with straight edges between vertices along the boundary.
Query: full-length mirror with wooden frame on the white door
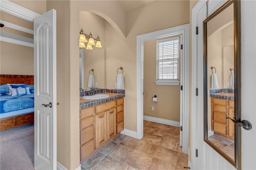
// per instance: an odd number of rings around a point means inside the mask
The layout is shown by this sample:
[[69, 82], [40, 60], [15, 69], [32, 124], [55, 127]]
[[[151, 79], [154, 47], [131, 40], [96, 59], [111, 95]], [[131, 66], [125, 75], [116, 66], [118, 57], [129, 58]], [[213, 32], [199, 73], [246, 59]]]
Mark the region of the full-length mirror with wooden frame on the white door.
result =
[[229, 0], [203, 22], [204, 141], [240, 169], [240, 1]]

